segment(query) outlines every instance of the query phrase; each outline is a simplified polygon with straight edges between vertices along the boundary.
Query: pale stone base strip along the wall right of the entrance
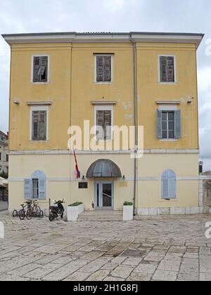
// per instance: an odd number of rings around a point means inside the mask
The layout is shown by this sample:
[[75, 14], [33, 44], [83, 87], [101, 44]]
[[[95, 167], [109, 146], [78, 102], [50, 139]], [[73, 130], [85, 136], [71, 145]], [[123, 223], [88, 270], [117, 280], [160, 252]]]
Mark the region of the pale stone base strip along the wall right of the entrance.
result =
[[137, 216], [211, 214], [211, 206], [138, 208]]

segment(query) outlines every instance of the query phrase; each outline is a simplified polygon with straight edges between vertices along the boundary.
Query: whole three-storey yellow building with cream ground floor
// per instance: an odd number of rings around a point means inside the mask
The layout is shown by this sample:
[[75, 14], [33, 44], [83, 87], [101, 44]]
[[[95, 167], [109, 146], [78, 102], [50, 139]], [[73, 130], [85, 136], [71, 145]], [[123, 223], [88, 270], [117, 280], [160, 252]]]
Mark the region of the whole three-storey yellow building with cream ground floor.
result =
[[[196, 65], [203, 34], [3, 37], [11, 46], [10, 210], [32, 198], [44, 209], [49, 198], [65, 198], [86, 210], [134, 202], [139, 215], [203, 210]], [[70, 126], [82, 132], [80, 178]], [[124, 126], [120, 144], [113, 126]], [[127, 138], [130, 126], [136, 132]]]

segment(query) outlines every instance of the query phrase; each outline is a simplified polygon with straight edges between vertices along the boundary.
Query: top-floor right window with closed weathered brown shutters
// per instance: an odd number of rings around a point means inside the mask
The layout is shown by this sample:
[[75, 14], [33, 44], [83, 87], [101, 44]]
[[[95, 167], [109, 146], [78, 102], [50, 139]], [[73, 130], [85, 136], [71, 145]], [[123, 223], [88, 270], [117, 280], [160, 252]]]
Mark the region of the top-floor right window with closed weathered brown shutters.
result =
[[159, 58], [159, 82], [175, 83], [176, 82], [175, 56], [160, 55], [158, 58]]

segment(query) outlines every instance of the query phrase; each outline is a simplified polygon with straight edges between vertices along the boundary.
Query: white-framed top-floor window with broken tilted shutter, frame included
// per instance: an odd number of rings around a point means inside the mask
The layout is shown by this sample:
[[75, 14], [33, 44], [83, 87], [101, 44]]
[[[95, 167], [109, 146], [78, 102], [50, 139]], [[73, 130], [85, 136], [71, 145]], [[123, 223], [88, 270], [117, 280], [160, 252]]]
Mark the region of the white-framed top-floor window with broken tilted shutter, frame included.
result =
[[32, 84], [49, 84], [50, 56], [46, 54], [32, 55]]

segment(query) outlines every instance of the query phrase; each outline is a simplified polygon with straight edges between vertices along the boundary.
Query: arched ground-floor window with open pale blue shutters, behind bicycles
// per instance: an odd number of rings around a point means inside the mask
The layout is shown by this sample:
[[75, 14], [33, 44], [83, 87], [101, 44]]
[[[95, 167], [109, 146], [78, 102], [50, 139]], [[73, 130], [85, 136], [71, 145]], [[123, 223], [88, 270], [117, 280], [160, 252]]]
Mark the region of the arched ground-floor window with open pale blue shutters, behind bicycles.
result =
[[25, 179], [25, 199], [46, 199], [46, 175], [34, 171], [31, 178]]

